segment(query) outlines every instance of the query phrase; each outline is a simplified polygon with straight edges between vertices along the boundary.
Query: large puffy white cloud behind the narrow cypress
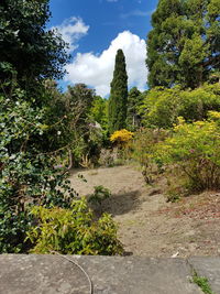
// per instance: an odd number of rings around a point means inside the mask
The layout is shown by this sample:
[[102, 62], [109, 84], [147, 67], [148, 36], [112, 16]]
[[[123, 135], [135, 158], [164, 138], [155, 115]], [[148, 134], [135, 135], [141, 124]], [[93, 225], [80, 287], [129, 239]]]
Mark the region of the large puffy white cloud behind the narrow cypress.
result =
[[68, 72], [66, 81], [72, 84], [85, 83], [94, 87], [98, 95], [107, 96], [110, 92], [114, 58], [119, 48], [122, 48], [125, 55], [129, 86], [144, 89], [147, 76], [146, 45], [144, 40], [130, 31], [118, 34], [110, 46], [100, 55], [95, 55], [91, 52], [78, 53], [73, 63], [66, 66]]

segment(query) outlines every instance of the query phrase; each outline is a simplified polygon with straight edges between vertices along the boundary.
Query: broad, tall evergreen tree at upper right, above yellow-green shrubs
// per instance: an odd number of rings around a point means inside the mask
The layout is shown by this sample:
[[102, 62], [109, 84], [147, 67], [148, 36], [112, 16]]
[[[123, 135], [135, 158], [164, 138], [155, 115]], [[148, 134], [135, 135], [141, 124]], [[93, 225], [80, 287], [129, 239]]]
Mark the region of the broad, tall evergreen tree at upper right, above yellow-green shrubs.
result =
[[220, 67], [219, 0], [160, 0], [152, 26], [150, 87], [196, 88]]

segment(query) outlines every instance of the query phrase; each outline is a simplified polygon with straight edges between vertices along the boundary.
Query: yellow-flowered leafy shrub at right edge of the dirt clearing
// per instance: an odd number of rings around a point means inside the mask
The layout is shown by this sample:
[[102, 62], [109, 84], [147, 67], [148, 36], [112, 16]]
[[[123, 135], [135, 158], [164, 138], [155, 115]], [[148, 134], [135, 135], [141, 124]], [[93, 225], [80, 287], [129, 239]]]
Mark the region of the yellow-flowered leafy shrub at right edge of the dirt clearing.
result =
[[[217, 112], [211, 112], [216, 118]], [[220, 124], [217, 121], [186, 123], [179, 118], [174, 134], [158, 143], [155, 160], [175, 164], [187, 177], [188, 190], [220, 187]]]

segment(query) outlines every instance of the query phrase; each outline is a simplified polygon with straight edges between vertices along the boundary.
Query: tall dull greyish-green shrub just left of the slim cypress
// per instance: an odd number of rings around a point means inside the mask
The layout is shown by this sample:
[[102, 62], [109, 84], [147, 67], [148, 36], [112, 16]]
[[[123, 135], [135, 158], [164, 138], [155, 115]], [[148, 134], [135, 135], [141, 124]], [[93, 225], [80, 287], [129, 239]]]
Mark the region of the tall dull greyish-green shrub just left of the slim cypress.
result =
[[69, 86], [64, 95], [68, 124], [66, 130], [70, 130], [67, 141], [75, 165], [85, 166], [86, 161], [96, 163], [99, 157], [102, 132], [91, 117], [95, 97], [95, 91], [85, 84]]

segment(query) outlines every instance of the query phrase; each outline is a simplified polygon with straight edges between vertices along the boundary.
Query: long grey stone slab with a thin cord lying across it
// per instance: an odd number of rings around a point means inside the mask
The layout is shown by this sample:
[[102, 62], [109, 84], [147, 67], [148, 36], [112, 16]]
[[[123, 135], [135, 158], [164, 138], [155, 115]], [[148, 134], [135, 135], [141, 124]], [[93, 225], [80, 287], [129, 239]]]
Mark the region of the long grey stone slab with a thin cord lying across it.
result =
[[[182, 259], [76, 257], [94, 294], [201, 294]], [[0, 255], [1, 294], [89, 294], [86, 275], [61, 255]]]

